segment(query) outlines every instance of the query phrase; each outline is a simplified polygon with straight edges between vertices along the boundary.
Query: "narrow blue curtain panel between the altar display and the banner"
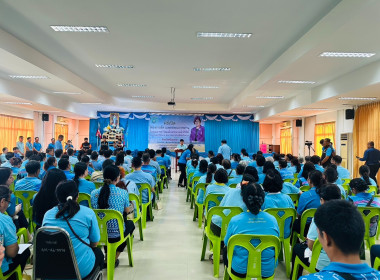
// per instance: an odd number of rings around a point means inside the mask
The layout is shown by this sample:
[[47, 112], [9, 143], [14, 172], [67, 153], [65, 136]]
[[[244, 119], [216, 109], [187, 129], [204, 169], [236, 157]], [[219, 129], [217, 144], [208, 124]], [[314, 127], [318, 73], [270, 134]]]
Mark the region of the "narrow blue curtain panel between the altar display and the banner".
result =
[[139, 151], [145, 150], [148, 148], [148, 133], [149, 120], [140, 120], [137, 118], [134, 120], [128, 120], [128, 127], [125, 135], [125, 146], [132, 151], [136, 149]]

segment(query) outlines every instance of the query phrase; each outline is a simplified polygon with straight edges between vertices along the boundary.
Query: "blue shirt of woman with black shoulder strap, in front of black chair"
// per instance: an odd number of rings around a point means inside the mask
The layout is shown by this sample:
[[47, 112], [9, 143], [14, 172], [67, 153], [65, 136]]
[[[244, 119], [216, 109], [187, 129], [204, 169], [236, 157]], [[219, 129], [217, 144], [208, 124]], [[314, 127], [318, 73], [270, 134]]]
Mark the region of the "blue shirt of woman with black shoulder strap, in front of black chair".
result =
[[[61, 218], [56, 218], [55, 215], [58, 212], [58, 207], [46, 212], [42, 226], [56, 226], [65, 229], [69, 235], [71, 242], [74, 247], [75, 257], [77, 259], [79, 272], [82, 278], [86, 277], [95, 265], [95, 255], [90, 247], [83, 244], [78, 238], [73, 234], [66, 221]], [[87, 244], [90, 242], [99, 242], [100, 231], [98, 221], [92, 209], [80, 206], [80, 210], [69, 220], [69, 223], [75, 233]]]

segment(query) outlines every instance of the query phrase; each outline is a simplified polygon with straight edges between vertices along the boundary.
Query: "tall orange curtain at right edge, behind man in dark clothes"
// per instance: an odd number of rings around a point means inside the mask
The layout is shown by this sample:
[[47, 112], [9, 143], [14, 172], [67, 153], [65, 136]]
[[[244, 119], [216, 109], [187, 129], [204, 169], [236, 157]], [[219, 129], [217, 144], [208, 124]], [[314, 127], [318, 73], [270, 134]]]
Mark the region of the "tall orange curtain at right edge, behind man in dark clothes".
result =
[[[363, 157], [367, 143], [373, 141], [375, 148], [380, 147], [380, 102], [360, 106], [355, 112], [353, 142], [354, 142], [354, 178], [359, 177], [359, 167], [364, 162], [356, 160], [355, 156]], [[379, 182], [380, 172], [377, 174]]]

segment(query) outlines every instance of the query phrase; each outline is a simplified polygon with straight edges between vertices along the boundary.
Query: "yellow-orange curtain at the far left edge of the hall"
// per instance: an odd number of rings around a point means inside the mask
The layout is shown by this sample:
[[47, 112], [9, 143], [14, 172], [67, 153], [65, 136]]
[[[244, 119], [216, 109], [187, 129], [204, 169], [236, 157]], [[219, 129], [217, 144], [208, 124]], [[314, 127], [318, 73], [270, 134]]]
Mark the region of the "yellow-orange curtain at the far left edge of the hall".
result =
[[[19, 136], [26, 138], [34, 135], [34, 121], [23, 118], [0, 115], [0, 147], [7, 147], [12, 152]], [[34, 139], [33, 139], [34, 141]]]

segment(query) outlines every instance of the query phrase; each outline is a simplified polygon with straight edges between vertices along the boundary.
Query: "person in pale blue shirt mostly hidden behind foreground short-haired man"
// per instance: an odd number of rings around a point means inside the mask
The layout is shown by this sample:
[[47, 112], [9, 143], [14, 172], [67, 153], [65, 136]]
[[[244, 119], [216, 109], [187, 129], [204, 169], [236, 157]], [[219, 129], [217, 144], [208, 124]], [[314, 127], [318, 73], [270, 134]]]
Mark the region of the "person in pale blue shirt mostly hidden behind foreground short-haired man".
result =
[[[326, 184], [323, 185], [320, 189], [320, 198], [321, 205], [325, 204], [328, 201], [332, 201], [334, 199], [341, 199], [341, 192], [339, 188], [335, 184]], [[292, 275], [293, 273], [297, 274], [297, 278], [302, 276], [303, 267], [300, 266], [298, 271], [294, 271], [294, 261], [296, 256], [305, 264], [310, 265], [309, 258], [305, 258], [305, 251], [312, 251], [314, 242], [318, 238], [317, 227], [315, 226], [314, 219], [312, 219], [309, 232], [307, 233], [307, 243], [297, 243], [293, 249], [292, 255]], [[328, 258], [326, 252], [322, 249], [317, 261], [317, 269], [318, 271], [322, 270], [324, 267], [330, 264], [330, 259]], [[292, 276], [290, 277], [292, 279]]]

